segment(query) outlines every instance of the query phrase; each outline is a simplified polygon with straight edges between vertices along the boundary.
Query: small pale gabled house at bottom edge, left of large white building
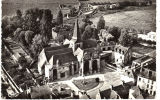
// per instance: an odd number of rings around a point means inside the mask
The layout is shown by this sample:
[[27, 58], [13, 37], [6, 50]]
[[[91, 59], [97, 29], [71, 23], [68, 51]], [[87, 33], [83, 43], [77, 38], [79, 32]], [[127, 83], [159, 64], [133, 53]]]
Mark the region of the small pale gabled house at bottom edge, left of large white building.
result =
[[130, 90], [129, 90], [129, 97], [128, 99], [144, 99], [139, 87], [137, 86], [133, 86]]

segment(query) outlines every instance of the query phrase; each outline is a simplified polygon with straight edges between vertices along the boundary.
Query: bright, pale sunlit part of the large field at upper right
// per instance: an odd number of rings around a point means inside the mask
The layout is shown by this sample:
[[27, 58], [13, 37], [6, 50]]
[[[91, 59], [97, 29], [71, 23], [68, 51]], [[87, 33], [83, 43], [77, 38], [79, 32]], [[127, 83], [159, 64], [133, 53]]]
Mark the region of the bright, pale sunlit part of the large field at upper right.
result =
[[[155, 10], [124, 11], [104, 15], [106, 26], [117, 26], [135, 29], [156, 30]], [[91, 19], [97, 25], [99, 17]]]

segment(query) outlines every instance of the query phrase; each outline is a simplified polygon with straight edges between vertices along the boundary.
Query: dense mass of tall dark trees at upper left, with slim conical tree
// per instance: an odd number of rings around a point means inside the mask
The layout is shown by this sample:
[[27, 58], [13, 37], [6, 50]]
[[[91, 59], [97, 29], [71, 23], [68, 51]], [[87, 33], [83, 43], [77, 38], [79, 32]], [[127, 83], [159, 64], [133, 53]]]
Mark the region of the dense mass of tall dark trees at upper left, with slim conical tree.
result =
[[56, 23], [52, 20], [53, 15], [49, 9], [32, 8], [24, 13], [17, 10], [15, 16], [3, 17], [2, 37], [12, 37], [36, 55], [42, 50], [39, 48], [46, 46], [52, 38], [52, 27], [63, 24], [61, 10], [57, 15]]

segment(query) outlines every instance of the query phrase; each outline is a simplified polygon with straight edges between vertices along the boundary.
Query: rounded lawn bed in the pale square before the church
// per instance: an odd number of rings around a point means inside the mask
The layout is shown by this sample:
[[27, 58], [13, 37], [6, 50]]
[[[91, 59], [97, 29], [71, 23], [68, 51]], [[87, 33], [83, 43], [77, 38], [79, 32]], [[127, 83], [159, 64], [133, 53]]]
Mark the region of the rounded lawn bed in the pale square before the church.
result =
[[74, 80], [75, 84], [80, 90], [90, 90], [98, 86], [99, 82], [96, 82], [96, 78], [84, 79], [84, 80]]

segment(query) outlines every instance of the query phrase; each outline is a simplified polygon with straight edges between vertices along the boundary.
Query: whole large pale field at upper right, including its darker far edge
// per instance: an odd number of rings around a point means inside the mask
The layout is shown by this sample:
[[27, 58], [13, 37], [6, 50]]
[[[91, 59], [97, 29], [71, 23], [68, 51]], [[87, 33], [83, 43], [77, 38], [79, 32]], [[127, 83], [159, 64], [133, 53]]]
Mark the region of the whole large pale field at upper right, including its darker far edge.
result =
[[144, 30], [156, 30], [156, 6], [134, 7], [128, 6], [119, 10], [107, 10], [99, 12], [91, 18], [97, 25], [100, 16], [104, 16], [106, 26], [121, 28], [135, 28]]

